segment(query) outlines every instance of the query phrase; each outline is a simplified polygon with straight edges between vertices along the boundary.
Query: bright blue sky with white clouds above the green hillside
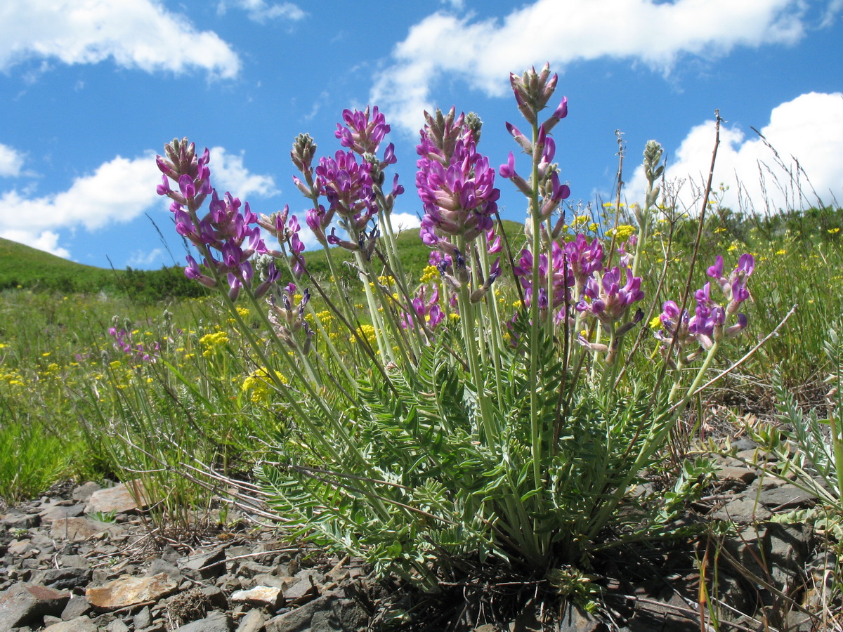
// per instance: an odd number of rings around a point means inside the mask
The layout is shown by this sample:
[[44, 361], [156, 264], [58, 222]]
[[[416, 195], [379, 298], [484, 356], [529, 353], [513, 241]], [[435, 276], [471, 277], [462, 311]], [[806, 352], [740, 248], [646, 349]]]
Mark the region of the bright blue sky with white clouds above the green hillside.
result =
[[[841, 40], [843, 0], [0, 0], [0, 236], [102, 267], [181, 263], [155, 195], [164, 142], [212, 148], [218, 189], [303, 219], [293, 139], [334, 153], [341, 111], [369, 103], [392, 126], [410, 227], [421, 112], [477, 112], [479, 149], [505, 163], [517, 147], [504, 123], [519, 125], [508, 73], [544, 62], [569, 100], [554, 131], [569, 201], [609, 199], [620, 129], [627, 200], [655, 138], [693, 212], [719, 108], [725, 204], [816, 203], [751, 127], [786, 167], [798, 159], [821, 201], [843, 203]], [[508, 184], [503, 217], [523, 221]]]

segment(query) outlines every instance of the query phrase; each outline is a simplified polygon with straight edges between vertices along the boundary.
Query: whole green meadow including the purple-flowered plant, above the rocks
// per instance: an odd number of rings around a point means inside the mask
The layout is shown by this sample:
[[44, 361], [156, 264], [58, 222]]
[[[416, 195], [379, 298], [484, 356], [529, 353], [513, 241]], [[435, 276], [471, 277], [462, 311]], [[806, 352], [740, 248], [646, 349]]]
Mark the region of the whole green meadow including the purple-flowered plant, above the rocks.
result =
[[843, 211], [745, 215], [706, 190], [689, 217], [659, 195], [655, 142], [646, 200], [567, 207], [547, 136], [566, 100], [539, 124], [545, 71], [513, 76], [531, 175], [513, 154], [499, 169], [524, 225], [499, 221], [480, 121], [452, 110], [422, 133], [421, 238], [394, 233], [388, 126], [346, 110], [348, 153], [314, 169], [313, 140], [293, 145], [321, 251], [303, 252], [286, 211], [218, 197], [207, 152], [178, 140], [158, 192], [201, 265], [78, 269], [73, 287], [67, 262], [9, 251], [3, 501], [139, 479], [151, 524], [185, 541], [233, 528], [234, 506], [424, 592], [504, 565], [598, 608], [583, 569], [668, 537], [711, 472], [709, 440], [749, 435], [784, 451], [771, 476], [823, 479], [810, 518], [836, 547]]

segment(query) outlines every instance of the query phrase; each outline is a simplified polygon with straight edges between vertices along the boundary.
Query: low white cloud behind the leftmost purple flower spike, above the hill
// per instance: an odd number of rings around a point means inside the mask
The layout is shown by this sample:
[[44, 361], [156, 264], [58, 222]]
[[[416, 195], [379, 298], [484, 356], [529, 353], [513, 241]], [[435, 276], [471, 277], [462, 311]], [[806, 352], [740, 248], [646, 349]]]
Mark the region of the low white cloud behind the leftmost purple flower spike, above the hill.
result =
[[[245, 169], [242, 153], [233, 155], [224, 147], [214, 147], [211, 153], [212, 183], [217, 188], [230, 190], [241, 199], [276, 192], [271, 177]], [[58, 245], [56, 231], [95, 231], [166, 208], [169, 200], [155, 190], [160, 182], [155, 154], [148, 151], [137, 158], [117, 156], [58, 193], [33, 196], [17, 189], [5, 191], [0, 194], [0, 237], [67, 257], [67, 249]]]

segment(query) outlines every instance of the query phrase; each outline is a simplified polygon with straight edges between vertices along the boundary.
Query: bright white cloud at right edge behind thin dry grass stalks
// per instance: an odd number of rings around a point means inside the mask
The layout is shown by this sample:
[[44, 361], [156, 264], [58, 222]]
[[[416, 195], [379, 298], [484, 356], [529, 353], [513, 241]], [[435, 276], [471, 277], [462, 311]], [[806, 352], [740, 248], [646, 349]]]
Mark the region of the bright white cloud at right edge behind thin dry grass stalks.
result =
[[[667, 180], [685, 179], [679, 201], [689, 206], [694, 189], [708, 177], [714, 148], [714, 121], [690, 130], [668, 162]], [[723, 206], [765, 212], [780, 208], [808, 208], [820, 201], [843, 201], [843, 94], [808, 93], [776, 106], [770, 122], [761, 127], [763, 140], [738, 128], [721, 126], [720, 147], [714, 171], [714, 187], [729, 187]], [[798, 167], [797, 167], [798, 163]], [[629, 201], [643, 199], [646, 180], [636, 169], [627, 189]]]

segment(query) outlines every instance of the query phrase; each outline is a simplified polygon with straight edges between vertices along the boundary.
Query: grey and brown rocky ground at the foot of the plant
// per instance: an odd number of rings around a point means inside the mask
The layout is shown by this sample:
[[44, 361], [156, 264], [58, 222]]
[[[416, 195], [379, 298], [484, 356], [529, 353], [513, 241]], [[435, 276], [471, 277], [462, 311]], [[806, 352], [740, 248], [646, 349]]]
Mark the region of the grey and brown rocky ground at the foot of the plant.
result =
[[[738, 447], [749, 457], [755, 446], [743, 441]], [[771, 522], [816, 499], [759, 477], [739, 459], [720, 458], [719, 465], [717, 484], [690, 508], [689, 521], [721, 528], [601, 558], [594, 573], [603, 590], [599, 613], [549, 608], [552, 600], [534, 582], [518, 586], [524, 605], [517, 617], [495, 608], [495, 595], [511, 597], [513, 582], [507, 591], [477, 582], [449, 586], [438, 602], [425, 602], [376, 583], [359, 560], [291, 548], [269, 528], [217, 530], [188, 545], [151, 529], [125, 485], [66, 485], [0, 515], [0, 630], [699, 631], [715, 629], [711, 610], [699, 604], [706, 599], [720, 613], [719, 629], [841, 629], [833, 618], [840, 596], [830, 547], [807, 525]], [[396, 622], [389, 615], [398, 607], [419, 614]], [[438, 607], [464, 614], [448, 623], [449, 615], [437, 618]]]

